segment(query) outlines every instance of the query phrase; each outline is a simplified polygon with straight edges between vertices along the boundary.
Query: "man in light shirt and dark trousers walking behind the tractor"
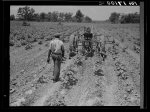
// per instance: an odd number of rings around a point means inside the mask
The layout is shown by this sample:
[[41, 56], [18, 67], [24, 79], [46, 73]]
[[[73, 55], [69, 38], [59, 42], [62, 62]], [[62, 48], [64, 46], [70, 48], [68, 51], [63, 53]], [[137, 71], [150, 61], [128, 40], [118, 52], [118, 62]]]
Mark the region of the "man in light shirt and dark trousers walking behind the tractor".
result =
[[50, 56], [52, 56], [54, 62], [53, 82], [59, 81], [61, 61], [62, 58], [64, 58], [64, 52], [65, 52], [64, 44], [59, 38], [60, 38], [60, 33], [57, 33], [55, 34], [55, 38], [51, 40], [48, 59], [47, 59], [47, 62], [49, 63]]

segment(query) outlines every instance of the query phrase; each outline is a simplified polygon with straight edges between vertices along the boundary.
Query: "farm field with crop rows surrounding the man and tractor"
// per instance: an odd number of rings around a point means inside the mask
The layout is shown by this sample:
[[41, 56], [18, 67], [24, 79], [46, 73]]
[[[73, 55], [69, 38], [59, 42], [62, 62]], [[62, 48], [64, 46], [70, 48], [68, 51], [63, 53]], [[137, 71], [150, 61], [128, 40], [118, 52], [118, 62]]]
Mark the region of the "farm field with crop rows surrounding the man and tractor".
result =
[[[140, 106], [140, 25], [108, 23], [10, 22], [10, 106]], [[91, 27], [104, 35], [106, 59], [97, 52], [69, 59], [69, 39]], [[61, 81], [52, 82], [49, 42], [62, 33], [66, 60]]]

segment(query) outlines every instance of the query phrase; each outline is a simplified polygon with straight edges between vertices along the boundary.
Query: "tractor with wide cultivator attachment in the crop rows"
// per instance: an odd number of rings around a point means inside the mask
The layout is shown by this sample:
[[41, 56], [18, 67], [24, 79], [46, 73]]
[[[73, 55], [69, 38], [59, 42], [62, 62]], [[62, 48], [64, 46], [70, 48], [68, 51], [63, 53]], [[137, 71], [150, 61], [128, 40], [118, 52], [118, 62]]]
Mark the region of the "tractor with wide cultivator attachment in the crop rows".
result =
[[[102, 34], [89, 33], [85, 34], [86, 28], [83, 30], [75, 32], [70, 39], [74, 40], [75, 36], [77, 37], [75, 41], [72, 41], [70, 44], [70, 55], [69, 58], [75, 56], [80, 53], [85, 57], [92, 57], [94, 53], [101, 56], [103, 59], [106, 58], [106, 44], [114, 44], [114, 40], [109, 40], [108, 37], [104, 37]], [[89, 39], [89, 37], [90, 39]], [[107, 41], [102, 41], [101, 37], [107, 38]], [[76, 43], [76, 44], [74, 44]]]

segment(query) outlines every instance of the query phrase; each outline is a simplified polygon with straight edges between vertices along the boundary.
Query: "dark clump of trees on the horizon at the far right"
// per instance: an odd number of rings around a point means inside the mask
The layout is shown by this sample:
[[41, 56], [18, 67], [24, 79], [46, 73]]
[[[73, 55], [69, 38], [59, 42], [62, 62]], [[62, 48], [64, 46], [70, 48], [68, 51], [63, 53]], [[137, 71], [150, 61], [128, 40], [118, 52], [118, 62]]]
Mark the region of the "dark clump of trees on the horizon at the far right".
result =
[[113, 12], [109, 17], [111, 23], [140, 23], [140, 14], [137, 12], [129, 14], [120, 14]]

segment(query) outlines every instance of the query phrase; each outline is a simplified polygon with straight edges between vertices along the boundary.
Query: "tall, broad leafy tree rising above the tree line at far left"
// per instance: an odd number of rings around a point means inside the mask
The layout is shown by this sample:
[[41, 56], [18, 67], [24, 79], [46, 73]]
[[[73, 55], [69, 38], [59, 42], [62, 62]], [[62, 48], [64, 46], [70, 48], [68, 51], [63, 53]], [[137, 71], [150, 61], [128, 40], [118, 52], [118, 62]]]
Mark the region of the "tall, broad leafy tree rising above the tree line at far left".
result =
[[21, 20], [32, 20], [34, 16], [35, 10], [33, 8], [30, 8], [28, 6], [20, 7], [17, 12], [17, 16]]

